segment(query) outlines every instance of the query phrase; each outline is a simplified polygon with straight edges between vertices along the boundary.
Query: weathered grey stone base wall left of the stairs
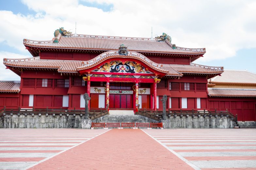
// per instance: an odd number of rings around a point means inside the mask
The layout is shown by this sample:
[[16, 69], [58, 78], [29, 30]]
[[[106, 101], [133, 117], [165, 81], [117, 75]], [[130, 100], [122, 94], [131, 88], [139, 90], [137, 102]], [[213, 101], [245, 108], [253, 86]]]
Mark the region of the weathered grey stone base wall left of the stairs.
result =
[[91, 120], [84, 115], [53, 115], [53, 114], [6, 114], [1, 116], [1, 128], [90, 128]]

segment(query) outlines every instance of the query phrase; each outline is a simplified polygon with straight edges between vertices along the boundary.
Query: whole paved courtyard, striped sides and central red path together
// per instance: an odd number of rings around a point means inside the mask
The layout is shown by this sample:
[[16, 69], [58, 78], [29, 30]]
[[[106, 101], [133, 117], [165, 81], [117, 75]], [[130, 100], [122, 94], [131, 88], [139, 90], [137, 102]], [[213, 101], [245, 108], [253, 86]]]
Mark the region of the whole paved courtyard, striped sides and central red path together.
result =
[[255, 129], [0, 129], [0, 169], [256, 170]]

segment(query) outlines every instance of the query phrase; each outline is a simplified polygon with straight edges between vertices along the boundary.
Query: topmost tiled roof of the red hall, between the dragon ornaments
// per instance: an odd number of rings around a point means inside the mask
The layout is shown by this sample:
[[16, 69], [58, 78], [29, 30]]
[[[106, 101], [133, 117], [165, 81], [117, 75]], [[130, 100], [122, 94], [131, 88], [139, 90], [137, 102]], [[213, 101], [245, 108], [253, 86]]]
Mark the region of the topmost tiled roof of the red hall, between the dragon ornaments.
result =
[[130, 38], [130, 37], [111, 37], [96, 35], [74, 35], [59, 36], [58, 43], [54, 40], [35, 41], [24, 39], [25, 46], [40, 48], [61, 48], [61, 49], [78, 49], [78, 50], [118, 50], [120, 44], [127, 46], [129, 51], [150, 52], [150, 53], [170, 53], [170, 54], [204, 54], [205, 48], [172, 48], [168, 41], [156, 41], [150, 38]]

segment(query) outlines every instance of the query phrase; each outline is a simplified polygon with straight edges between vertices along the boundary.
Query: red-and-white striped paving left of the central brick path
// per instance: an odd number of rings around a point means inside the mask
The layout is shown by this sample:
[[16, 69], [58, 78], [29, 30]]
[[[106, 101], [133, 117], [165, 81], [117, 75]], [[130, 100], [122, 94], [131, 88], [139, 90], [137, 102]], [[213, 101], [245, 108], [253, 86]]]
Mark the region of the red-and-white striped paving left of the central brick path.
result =
[[[27, 166], [38, 163], [31, 162], [33, 158], [47, 159], [106, 131], [108, 130], [0, 129], [0, 158], [4, 160], [0, 159], [0, 169], [26, 169]], [[24, 161], [13, 162], [16, 158]], [[26, 158], [30, 160], [26, 162]]]

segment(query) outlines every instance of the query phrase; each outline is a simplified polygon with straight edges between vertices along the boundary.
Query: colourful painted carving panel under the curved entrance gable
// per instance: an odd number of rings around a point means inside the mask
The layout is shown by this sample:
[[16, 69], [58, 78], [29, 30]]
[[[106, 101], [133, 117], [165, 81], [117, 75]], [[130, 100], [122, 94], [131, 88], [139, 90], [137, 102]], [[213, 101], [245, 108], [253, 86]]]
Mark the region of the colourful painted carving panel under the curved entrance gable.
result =
[[113, 73], [148, 73], [152, 74], [145, 67], [134, 61], [110, 61], [92, 72], [113, 72]]

